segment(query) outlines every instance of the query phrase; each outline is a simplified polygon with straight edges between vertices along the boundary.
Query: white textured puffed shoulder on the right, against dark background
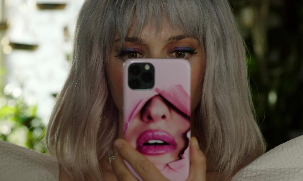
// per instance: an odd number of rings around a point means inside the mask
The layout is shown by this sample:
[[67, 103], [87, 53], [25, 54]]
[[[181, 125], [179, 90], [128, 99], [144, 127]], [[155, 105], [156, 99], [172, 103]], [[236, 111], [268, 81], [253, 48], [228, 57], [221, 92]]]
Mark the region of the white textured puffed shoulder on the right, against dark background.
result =
[[303, 135], [266, 152], [235, 174], [232, 181], [302, 181]]

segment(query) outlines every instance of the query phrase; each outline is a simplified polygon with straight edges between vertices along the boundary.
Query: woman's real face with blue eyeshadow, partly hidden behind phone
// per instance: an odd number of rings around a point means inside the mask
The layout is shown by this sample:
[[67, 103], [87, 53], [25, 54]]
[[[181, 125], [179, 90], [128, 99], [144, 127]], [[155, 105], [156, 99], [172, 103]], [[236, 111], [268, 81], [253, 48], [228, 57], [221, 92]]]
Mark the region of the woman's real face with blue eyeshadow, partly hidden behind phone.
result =
[[205, 69], [204, 49], [195, 37], [188, 36], [179, 28], [172, 28], [168, 20], [163, 19], [158, 32], [154, 24], [148, 24], [141, 33], [136, 35], [133, 25], [122, 44], [122, 50], [118, 52], [118, 49], [119, 37], [116, 36], [106, 72], [110, 92], [119, 111], [119, 137], [122, 137], [123, 134], [122, 67], [126, 59], [183, 58], [188, 60], [191, 65], [191, 112], [195, 110], [201, 100]]

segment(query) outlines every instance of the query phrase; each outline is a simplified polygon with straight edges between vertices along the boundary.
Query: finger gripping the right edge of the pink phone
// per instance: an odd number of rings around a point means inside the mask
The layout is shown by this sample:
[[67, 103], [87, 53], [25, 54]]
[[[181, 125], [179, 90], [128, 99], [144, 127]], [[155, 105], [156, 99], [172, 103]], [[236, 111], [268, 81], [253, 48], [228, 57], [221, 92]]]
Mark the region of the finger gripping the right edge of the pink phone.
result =
[[190, 141], [190, 173], [188, 180], [206, 181], [206, 157], [199, 148], [197, 138]]

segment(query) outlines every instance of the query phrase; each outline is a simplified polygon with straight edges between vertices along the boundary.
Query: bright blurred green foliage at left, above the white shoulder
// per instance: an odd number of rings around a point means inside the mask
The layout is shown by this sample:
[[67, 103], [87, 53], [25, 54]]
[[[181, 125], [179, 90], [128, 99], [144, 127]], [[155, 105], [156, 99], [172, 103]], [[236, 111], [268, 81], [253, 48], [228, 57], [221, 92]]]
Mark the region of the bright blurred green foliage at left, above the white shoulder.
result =
[[45, 153], [45, 126], [36, 116], [36, 110], [36, 106], [28, 106], [21, 98], [2, 95], [0, 139]]

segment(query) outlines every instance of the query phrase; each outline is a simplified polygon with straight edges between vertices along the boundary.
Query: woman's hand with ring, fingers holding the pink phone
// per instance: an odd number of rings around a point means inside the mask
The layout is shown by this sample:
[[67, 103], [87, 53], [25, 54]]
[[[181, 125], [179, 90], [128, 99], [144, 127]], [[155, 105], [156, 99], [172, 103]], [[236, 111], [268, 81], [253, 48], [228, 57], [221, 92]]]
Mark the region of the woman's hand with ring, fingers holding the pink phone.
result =
[[[128, 170], [123, 159], [125, 159], [145, 181], [166, 179], [162, 173], [142, 154], [135, 150], [130, 144], [123, 139], [117, 139], [114, 147], [119, 153], [115, 160], [111, 162], [112, 169], [119, 181], [138, 180]], [[195, 137], [191, 138], [190, 143], [190, 173], [188, 180], [206, 181], [206, 157], [198, 146]]]

